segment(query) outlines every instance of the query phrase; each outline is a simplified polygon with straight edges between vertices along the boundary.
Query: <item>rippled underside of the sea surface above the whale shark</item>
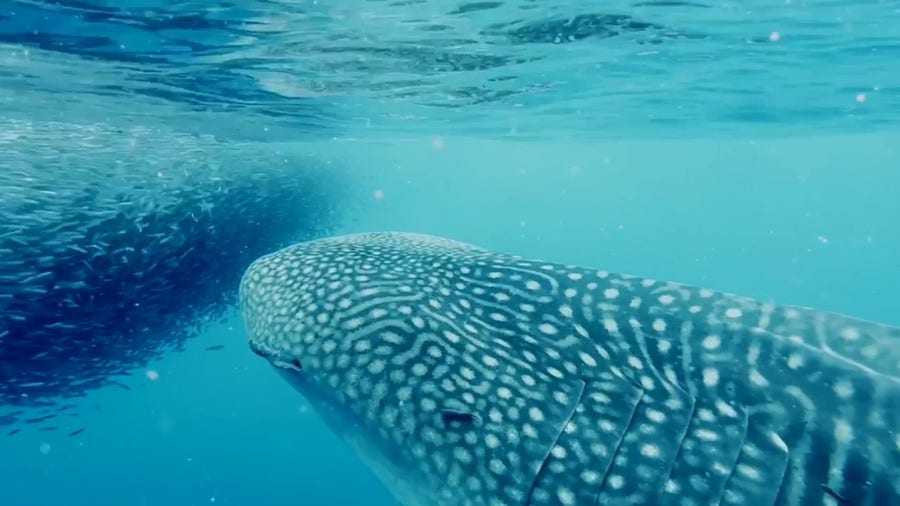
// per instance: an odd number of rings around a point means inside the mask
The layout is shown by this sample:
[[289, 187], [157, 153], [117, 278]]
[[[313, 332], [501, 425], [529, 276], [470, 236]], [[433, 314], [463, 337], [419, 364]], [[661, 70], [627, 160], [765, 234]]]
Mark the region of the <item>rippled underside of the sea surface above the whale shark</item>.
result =
[[77, 92], [105, 116], [240, 112], [229, 133], [262, 138], [606, 139], [872, 130], [900, 107], [893, 2], [53, 5], [0, 17], [22, 113]]

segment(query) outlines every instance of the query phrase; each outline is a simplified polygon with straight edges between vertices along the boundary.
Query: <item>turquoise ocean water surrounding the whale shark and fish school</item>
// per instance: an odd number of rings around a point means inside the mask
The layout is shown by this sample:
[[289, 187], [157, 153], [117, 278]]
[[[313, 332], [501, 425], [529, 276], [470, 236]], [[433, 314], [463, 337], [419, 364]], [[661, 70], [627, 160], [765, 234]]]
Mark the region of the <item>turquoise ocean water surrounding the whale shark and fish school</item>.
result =
[[[898, 40], [892, 1], [7, 0], [0, 162], [102, 129], [190, 165], [196, 137], [203, 164], [341, 167], [329, 234], [900, 325]], [[131, 372], [0, 426], [0, 506], [395, 504], [233, 312]]]

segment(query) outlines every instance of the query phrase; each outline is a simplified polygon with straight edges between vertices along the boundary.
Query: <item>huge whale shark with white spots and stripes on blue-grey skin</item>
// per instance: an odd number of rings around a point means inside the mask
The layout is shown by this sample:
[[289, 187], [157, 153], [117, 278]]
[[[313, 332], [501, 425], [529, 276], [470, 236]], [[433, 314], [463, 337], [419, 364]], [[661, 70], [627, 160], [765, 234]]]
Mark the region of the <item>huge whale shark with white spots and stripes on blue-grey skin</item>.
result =
[[900, 329], [448, 239], [301, 243], [251, 349], [406, 506], [900, 504]]

